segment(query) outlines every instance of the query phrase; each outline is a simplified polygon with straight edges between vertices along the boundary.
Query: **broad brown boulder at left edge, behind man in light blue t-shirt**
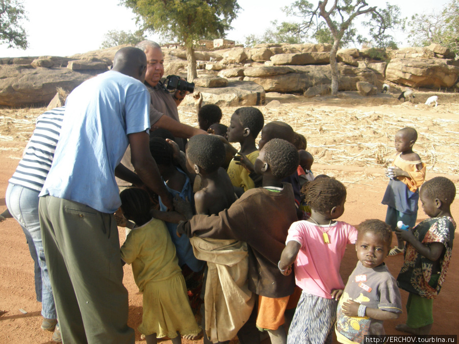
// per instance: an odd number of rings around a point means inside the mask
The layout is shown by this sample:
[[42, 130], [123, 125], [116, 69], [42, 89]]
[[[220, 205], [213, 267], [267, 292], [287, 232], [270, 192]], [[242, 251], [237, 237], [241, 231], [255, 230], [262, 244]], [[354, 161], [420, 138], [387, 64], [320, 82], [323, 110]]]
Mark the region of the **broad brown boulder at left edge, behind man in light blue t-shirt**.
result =
[[53, 99], [58, 87], [71, 91], [85, 80], [104, 71], [73, 71], [67, 68], [1, 65], [0, 104], [11, 107], [46, 105]]

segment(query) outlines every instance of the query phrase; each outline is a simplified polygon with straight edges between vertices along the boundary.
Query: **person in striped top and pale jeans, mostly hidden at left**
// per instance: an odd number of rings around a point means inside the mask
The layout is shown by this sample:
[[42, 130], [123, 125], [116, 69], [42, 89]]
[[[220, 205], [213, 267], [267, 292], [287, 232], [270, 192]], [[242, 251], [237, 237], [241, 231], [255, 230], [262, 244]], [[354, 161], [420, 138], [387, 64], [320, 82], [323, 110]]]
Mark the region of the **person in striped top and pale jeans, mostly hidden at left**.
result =
[[[57, 314], [41, 240], [38, 194], [53, 162], [64, 110], [64, 107], [56, 108], [38, 117], [34, 133], [22, 154], [22, 160], [9, 180], [5, 197], [11, 215], [24, 231], [35, 262], [35, 292], [37, 301], [42, 303], [41, 328], [48, 331], [55, 330]], [[53, 339], [60, 339], [58, 330]]]

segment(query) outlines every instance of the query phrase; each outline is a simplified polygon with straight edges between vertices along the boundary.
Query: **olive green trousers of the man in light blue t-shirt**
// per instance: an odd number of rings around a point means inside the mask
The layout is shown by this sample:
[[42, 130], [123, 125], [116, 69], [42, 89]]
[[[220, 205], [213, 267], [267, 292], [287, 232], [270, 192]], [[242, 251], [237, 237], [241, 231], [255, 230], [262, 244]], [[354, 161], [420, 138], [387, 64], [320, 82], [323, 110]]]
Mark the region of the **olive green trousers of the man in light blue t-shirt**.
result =
[[39, 216], [63, 342], [133, 344], [113, 214], [45, 196]]

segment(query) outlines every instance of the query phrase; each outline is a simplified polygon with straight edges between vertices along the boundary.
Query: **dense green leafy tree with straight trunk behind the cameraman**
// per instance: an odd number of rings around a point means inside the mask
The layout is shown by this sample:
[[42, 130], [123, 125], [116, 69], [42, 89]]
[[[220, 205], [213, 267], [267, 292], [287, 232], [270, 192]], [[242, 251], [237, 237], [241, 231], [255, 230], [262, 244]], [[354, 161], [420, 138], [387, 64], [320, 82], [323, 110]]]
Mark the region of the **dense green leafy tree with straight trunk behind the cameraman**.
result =
[[203, 38], [222, 38], [236, 18], [237, 0], [123, 0], [143, 28], [168, 40], [185, 43], [188, 81], [197, 76], [195, 42]]

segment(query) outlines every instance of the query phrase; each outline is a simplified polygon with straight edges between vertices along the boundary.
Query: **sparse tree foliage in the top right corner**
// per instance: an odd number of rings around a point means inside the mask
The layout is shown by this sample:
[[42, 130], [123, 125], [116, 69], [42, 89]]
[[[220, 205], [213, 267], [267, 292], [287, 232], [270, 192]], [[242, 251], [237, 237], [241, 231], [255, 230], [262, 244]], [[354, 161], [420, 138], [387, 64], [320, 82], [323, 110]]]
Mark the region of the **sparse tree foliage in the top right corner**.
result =
[[459, 1], [452, 0], [441, 12], [415, 14], [407, 22], [407, 28], [411, 44], [437, 43], [459, 54]]

